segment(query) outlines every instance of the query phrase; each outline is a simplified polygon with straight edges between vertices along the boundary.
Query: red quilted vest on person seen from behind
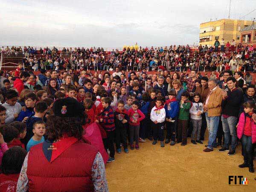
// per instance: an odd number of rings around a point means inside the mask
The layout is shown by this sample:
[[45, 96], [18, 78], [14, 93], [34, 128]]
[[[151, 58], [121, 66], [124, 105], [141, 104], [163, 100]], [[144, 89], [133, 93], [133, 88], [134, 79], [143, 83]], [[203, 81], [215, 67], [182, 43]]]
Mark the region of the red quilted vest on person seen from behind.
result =
[[81, 140], [50, 163], [43, 143], [29, 151], [27, 177], [31, 192], [92, 192], [91, 170], [97, 150]]

